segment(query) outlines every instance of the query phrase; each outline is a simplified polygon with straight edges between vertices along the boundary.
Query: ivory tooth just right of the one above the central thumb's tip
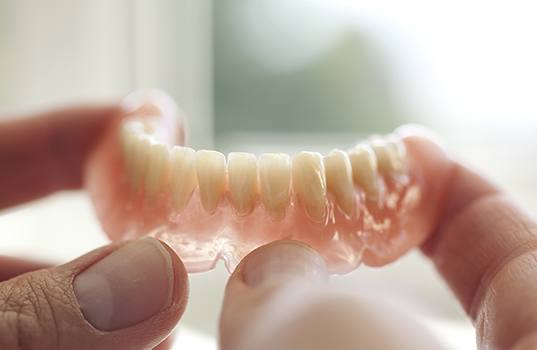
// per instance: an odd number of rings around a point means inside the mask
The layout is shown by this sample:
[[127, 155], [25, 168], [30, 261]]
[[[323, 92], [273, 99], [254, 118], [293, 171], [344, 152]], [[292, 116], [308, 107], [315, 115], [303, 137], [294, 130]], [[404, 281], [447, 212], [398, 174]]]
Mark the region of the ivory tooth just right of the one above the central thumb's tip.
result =
[[293, 189], [309, 216], [322, 221], [326, 215], [326, 180], [319, 153], [300, 152], [293, 159]]

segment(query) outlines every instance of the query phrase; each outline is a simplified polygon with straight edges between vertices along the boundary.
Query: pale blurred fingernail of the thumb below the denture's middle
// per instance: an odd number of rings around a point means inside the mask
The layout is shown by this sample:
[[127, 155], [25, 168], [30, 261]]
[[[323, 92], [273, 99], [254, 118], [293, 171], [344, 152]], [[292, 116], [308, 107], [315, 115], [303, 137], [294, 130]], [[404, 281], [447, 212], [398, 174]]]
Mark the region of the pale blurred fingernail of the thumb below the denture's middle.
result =
[[321, 282], [328, 276], [324, 259], [313, 249], [295, 241], [269, 244], [245, 259], [242, 277], [252, 287], [295, 280]]

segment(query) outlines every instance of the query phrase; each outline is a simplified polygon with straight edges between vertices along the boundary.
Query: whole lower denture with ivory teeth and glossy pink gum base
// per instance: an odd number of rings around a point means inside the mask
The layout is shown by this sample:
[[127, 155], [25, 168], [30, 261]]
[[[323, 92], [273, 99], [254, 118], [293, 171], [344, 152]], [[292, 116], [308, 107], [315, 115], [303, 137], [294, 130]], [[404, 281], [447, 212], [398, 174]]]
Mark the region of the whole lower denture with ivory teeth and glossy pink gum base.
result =
[[419, 152], [397, 134], [324, 156], [226, 157], [185, 146], [181, 112], [161, 93], [131, 95], [119, 114], [86, 168], [102, 226], [113, 240], [163, 240], [190, 272], [218, 260], [232, 270], [260, 245], [294, 239], [345, 273], [395, 259], [428, 230]]

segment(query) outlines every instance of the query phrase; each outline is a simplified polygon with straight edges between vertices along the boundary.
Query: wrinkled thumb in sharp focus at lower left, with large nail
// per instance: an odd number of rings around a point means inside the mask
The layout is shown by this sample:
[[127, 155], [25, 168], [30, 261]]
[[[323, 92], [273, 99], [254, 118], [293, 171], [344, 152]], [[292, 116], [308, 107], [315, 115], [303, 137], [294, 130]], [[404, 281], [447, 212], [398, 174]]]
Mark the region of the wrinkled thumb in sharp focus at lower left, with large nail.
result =
[[187, 294], [183, 264], [160, 241], [111, 244], [0, 283], [0, 348], [152, 348]]

